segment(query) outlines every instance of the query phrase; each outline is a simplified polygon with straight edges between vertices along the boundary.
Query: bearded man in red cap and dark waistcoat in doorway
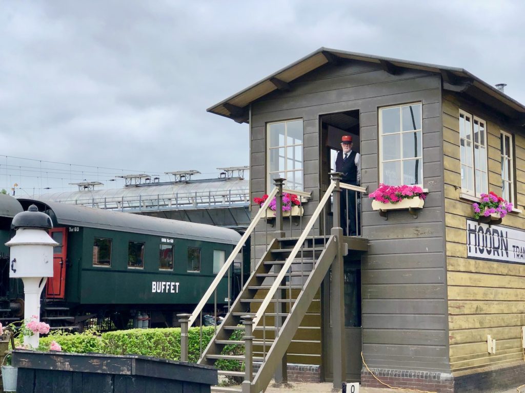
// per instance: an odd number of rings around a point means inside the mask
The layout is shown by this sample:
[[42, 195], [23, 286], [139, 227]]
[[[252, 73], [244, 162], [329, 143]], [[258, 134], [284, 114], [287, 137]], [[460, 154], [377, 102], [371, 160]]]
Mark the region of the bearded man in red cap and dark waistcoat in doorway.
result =
[[[350, 135], [343, 135], [341, 139], [341, 147], [343, 151], [339, 151], [335, 157], [334, 168], [336, 172], [343, 174], [341, 181], [346, 184], [360, 185], [361, 184], [361, 155], [352, 150], [352, 137]], [[348, 210], [348, 211], [347, 211]], [[349, 234], [355, 236], [357, 234], [357, 215], [356, 215], [356, 193], [351, 190], [341, 190], [341, 226], [343, 227], [343, 235]], [[348, 231], [347, 231], [348, 228]], [[348, 233], [349, 232], [349, 233]]]

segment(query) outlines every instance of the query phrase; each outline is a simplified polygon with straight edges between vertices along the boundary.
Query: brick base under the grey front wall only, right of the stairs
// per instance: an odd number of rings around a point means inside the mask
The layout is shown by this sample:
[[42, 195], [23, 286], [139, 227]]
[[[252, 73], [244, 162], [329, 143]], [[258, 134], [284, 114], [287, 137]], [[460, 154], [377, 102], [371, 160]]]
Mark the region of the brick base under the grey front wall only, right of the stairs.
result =
[[[454, 393], [454, 380], [448, 373], [432, 373], [427, 371], [391, 370], [371, 368], [372, 373], [395, 388], [435, 391], [437, 393]], [[366, 368], [361, 370], [361, 386], [371, 388], [385, 388]]]

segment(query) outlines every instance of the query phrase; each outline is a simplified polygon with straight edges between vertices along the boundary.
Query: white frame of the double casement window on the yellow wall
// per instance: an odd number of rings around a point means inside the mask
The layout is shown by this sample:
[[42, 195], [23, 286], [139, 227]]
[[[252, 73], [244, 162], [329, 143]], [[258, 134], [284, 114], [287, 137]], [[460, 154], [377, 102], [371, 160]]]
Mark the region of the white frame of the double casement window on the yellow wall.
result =
[[[468, 116], [470, 118], [470, 135], [472, 136], [472, 139], [471, 139], [471, 157], [472, 157], [472, 160], [470, 162], [466, 162], [465, 160], [465, 157], [461, 156], [461, 153], [459, 154], [459, 160], [460, 160], [460, 175], [461, 175], [461, 192], [464, 193], [464, 194], [467, 194], [467, 195], [471, 195], [471, 196], [475, 196], [476, 198], [479, 198], [481, 196], [481, 194], [486, 194], [488, 193], [488, 189], [489, 189], [489, 176], [488, 176], [488, 158], [487, 158], [487, 150], [488, 150], [488, 128], [487, 128], [487, 122], [480, 118], [480, 117], [477, 117], [477, 116], [474, 116], [472, 115], [471, 113], [468, 113], [466, 111], [463, 111], [463, 110], [459, 110], [459, 116], [458, 116], [458, 121], [460, 121], [460, 117], [461, 115], [463, 116]], [[475, 122], [478, 122], [478, 123], [483, 123], [484, 126], [485, 126], [485, 145], [481, 145], [480, 143], [476, 143], [475, 142], [475, 136], [474, 136], [474, 123]], [[461, 149], [461, 139], [466, 139], [466, 138], [462, 138], [461, 137], [461, 134], [459, 134], [459, 147]], [[479, 165], [478, 167], [476, 167], [476, 155], [475, 155], [475, 146], [482, 146], [484, 147], [485, 149], [485, 154], [480, 157], [482, 160], [485, 161], [485, 170], [482, 170], [479, 168]], [[468, 166], [470, 168], [472, 168], [472, 183], [471, 184], [467, 184], [467, 186], [470, 186], [471, 185], [471, 188], [465, 188], [463, 187], [463, 175], [461, 174], [462, 172], [462, 167], [463, 166]], [[484, 184], [481, 184], [481, 190], [480, 192], [476, 192], [476, 171], [478, 172], [484, 172], [485, 173], [485, 183]]]

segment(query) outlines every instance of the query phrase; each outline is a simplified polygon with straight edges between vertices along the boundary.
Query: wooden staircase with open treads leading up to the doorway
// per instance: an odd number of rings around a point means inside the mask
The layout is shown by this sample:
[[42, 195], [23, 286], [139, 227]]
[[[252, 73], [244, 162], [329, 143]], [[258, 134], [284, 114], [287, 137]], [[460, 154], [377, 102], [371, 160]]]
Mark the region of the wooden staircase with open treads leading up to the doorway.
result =
[[[200, 364], [214, 365], [218, 359], [245, 362], [244, 355], [222, 354], [225, 346], [244, 346], [245, 341], [231, 340], [236, 330], [245, 330], [243, 320], [253, 320], [253, 362], [258, 368], [253, 373], [250, 386], [243, 383], [242, 389], [213, 387], [216, 392], [259, 392], [265, 390], [276, 367], [303, 321], [314, 296], [319, 290], [324, 276], [337, 255], [335, 236], [307, 237], [300, 245], [300, 252], [291, 261], [283, 279], [276, 287], [277, 291], [265, 310], [266, 294], [279, 279], [279, 273], [292, 249], [297, 246], [298, 238], [274, 239], [264, 256], [260, 259], [253, 274], [248, 279], [243, 291], [235, 300], [217, 334], [208, 344], [199, 359]], [[282, 276], [282, 275], [281, 275]], [[245, 318], [243, 318], [245, 317]], [[308, 321], [308, 318], [305, 319]], [[277, 325], [276, 325], [277, 322]], [[309, 329], [309, 326], [302, 326]], [[285, 358], [286, 362], [286, 358]], [[219, 375], [244, 377], [245, 372], [219, 370]]]

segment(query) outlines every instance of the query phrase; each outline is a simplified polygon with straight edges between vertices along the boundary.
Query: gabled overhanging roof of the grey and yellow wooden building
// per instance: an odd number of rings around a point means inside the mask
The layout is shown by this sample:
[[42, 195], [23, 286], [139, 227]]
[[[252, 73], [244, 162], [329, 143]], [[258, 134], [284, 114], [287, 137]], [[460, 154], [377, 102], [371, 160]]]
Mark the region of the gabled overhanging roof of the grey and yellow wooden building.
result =
[[358, 60], [381, 64], [381, 67], [389, 73], [396, 73], [400, 68], [412, 68], [439, 73], [443, 77], [443, 86], [445, 89], [475, 96], [478, 100], [495, 107], [498, 111], [506, 114], [510, 118], [516, 119], [520, 126], [525, 125], [525, 105], [512, 99], [507, 94], [487, 82], [482, 81], [463, 68], [419, 63], [329, 48], [319, 48], [302, 59], [287, 65], [285, 68], [272, 73], [268, 77], [248, 86], [246, 89], [209, 107], [207, 111], [232, 118], [239, 123], [248, 122], [247, 106], [250, 103], [275, 90], [289, 90], [288, 84], [290, 82], [324, 64], [337, 64], [345, 60]]

